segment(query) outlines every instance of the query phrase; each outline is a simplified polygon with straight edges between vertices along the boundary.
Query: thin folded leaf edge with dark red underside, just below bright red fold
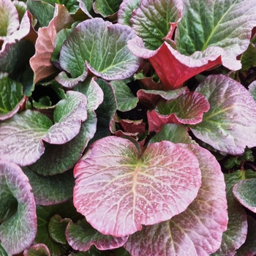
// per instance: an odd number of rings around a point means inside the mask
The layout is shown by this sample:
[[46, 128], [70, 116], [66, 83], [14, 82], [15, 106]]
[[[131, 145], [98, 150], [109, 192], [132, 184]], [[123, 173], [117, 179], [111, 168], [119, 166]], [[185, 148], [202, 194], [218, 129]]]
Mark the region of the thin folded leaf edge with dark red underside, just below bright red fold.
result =
[[159, 102], [159, 99], [166, 99], [166, 100], [176, 99], [178, 96], [182, 94], [184, 90], [187, 90], [187, 87], [182, 87], [180, 89], [172, 90], [172, 91], [140, 89], [139, 91], [137, 91], [137, 97], [138, 99], [140, 99], [140, 102], [151, 104], [153, 108], [155, 108], [157, 106], [157, 103]]

